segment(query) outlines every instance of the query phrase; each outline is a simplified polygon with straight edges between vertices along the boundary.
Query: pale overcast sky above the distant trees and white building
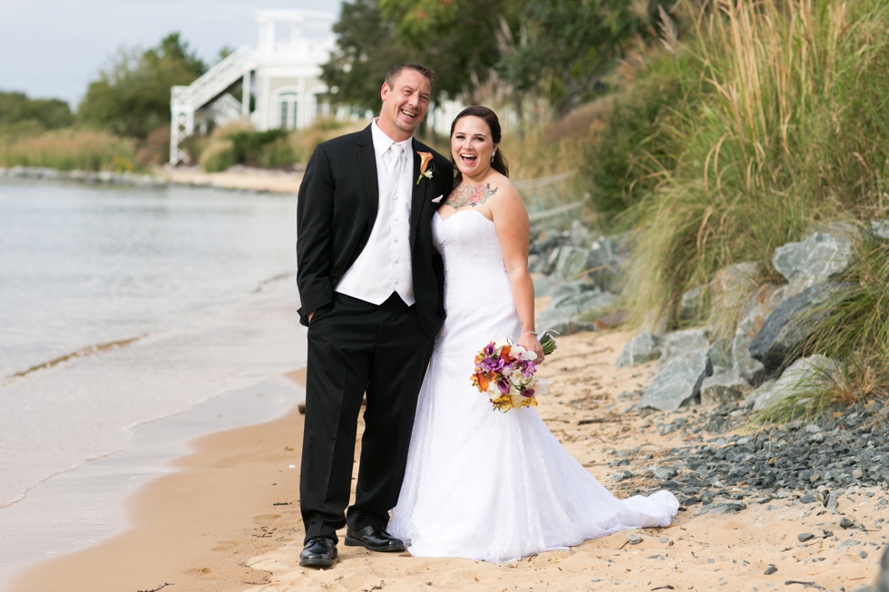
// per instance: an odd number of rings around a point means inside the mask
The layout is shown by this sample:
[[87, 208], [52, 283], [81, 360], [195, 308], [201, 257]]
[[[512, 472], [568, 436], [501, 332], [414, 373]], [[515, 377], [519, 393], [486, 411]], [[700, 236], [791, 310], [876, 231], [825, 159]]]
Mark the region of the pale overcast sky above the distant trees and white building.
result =
[[220, 48], [256, 44], [254, 11], [304, 8], [339, 14], [341, 0], [0, 0], [0, 91], [77, 106], [119, 48], [179, 31], [204, 61]]

